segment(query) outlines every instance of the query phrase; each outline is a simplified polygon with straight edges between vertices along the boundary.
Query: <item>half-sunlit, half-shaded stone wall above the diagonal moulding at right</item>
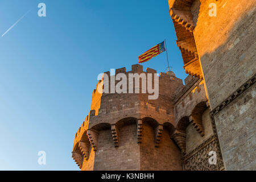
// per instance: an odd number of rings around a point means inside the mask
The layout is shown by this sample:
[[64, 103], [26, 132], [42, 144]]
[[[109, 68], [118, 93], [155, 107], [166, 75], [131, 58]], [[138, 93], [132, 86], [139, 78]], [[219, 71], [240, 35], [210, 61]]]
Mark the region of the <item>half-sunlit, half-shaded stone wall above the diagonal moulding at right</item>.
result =
[[[210, 17], [209, 4], [217, 16]], [[256, 73], [255, 0], [201, 1], [193, 32], [213, 109]]]

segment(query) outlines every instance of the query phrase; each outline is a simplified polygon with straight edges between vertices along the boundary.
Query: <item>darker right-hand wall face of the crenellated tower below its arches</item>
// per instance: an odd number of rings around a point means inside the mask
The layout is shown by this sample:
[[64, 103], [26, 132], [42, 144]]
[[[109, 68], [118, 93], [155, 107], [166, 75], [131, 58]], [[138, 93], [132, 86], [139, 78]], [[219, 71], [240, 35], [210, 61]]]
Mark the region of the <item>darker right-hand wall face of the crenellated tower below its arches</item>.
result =
[[159, 147], [155, 147], [154, 130], [143, 123], [142, 143], [140, 145], [141, 170], [182, 170], [179, 148], [170, 138], [167, 130], [163, 130]]

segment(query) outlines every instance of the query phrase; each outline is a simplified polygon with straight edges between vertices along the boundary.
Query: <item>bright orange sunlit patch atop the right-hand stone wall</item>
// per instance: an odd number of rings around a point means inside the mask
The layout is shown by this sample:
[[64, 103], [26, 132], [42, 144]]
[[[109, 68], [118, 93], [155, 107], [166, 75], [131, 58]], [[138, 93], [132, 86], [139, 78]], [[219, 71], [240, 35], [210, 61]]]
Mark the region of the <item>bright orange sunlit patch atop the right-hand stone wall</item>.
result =
[[[224, 44], [226, 45], [229, 40], [232, 42], [232, 38], [234, 42], [236, 39], [236, 33], [233, 34], [233, 30], [236, 30], [237, 27], [240, 26], [241, 22], [246, 23], [245, 19], [249, 21], [248, 24], [253, 23], [254, 19], [254, 0], [248, 0], [246, 2], [241, 2], [241, 0], [217, 2], [216, 16], [209, 16], [210, 9], [208, 5], [211, 2], [212, 1], [207, 0], [201, 3], [199, 13], [197, 13], [199, 5], [194, 3], [195, 7], [191, 7], [191, 11], [196, 11], [195, 14], [193, 14], [193, 19], [195, 19], [194, 21], [197, 23], [194, 35], [200, 55], [216, 52], [218, 47], [221, 47], [221, 45]], [[245, 34], [245, 29], [246, 27], [241, 30], [241, 35]], [[254, 29], [251, 29], [251, 31]], [[226, 45], [223, 51], [227, 51], [229, 46], [232, 46], [232, 44]]]

